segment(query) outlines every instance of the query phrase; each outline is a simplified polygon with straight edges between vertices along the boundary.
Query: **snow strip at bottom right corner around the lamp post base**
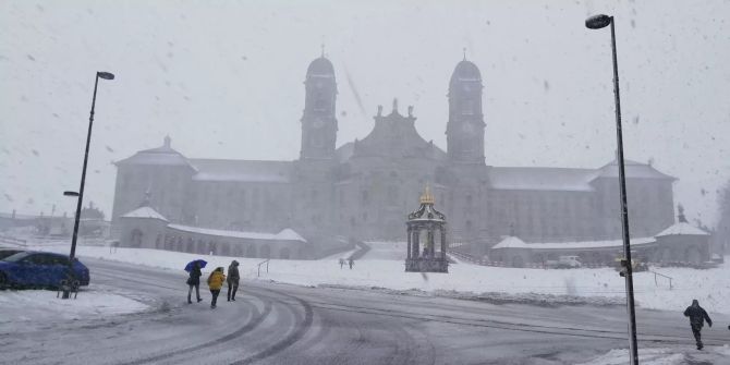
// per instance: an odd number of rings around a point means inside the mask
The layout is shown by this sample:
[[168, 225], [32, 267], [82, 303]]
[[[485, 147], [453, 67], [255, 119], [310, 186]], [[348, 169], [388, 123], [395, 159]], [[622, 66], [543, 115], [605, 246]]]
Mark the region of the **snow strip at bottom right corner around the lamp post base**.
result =
[[[629, 361], [629, 350], [611, 350], [607, 354], [581, 365], [623, 365]], [[706, 346], [703, 351], [682, 348], [638, 349], [643, 365], [730, 364], [730, 346]]]

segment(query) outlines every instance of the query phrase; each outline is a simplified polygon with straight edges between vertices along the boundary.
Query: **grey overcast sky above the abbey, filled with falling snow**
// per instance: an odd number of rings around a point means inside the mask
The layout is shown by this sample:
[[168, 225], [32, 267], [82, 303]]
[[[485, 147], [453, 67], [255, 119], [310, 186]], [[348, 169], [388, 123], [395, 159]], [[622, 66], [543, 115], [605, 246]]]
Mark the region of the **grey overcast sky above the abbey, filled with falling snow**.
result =
[[111, 161], [166, 134], [188, 157], [297, 158], [323, 42], [338, 145], [398, 97], [446, 148], [465, 47], [485, 84], [488, 165], [597, 168], [616, 148], [610, 34], [584, 26], [599, 12], [617, 17], [626, 158], [679, 178], [677, 200], [714, 223], [730, 178], [730, 1], [704, 0], [0, 0], [0, 211], [73, 211], [61, 192], [78, 185], [97, 70], [117, 80], [99, 85], [86, 196], [107, 215]]

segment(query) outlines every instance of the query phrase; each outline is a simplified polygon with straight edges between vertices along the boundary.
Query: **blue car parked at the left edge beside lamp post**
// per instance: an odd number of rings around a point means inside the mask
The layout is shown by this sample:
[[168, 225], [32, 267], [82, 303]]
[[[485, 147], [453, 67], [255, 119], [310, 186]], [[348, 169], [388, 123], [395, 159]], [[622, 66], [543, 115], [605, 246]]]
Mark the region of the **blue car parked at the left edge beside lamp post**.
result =
[[[65, 255], [21, 252], [0, 259], [0, 288], [59, 288], [68, 270]], [[77, 259], [73, 263], [73, 275], [81, 285], [88, 285], [88, 268]]]

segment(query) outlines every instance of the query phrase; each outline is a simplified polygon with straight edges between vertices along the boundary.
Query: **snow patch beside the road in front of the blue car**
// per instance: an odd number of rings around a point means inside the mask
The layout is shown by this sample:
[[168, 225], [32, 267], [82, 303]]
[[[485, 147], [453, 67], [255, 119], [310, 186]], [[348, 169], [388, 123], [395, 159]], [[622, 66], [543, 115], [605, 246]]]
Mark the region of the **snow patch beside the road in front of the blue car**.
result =
[[54, 291], [4, 290], [0, 291], [0, 329], [3, 325], [20, 323], [47, 323], [73, 319], [93, 319], [149, 309], [129, 295], [120, 295], [98, 285], [89, 285], [76, 299], [61, 300]]

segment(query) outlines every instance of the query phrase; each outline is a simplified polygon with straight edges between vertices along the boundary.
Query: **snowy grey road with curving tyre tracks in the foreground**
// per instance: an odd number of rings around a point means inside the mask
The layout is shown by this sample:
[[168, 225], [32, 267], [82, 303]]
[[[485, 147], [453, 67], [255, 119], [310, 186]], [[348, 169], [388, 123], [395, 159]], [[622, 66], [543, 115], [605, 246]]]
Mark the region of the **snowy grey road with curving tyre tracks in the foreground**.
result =
[[[85, 263], [94, 284], [144, 299], [155, 311], [3, 330], [0, 362], [572, 364], [628, 343], [622, 307], [491, 305], [244, 281], [236, 302], [221, 292], [212, 311], [207, 288], [205, 302], [186, 304], [184, 272]], [[641, 346], [692, 348], [681, 314], [640, 309], [637, 318]], [[721, 326], [729, 318], [714, 319], [706, 345], [730, 343]]]

